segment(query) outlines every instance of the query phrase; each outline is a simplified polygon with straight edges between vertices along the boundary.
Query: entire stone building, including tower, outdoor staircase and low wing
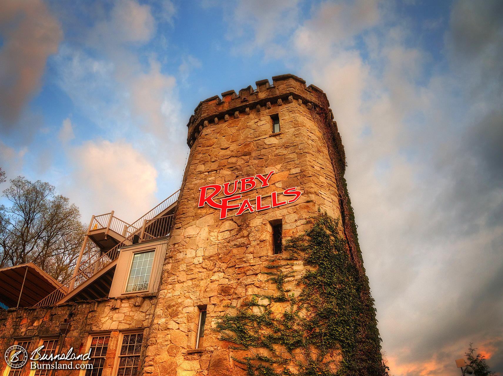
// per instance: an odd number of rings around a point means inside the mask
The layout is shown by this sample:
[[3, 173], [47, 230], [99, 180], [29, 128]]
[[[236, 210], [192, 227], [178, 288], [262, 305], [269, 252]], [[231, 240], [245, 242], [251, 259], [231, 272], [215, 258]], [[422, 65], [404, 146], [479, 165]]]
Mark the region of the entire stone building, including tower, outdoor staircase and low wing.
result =
[[[27, 350], [2, 374], [386, 374], [323, 91], [275, 76], [187, 127], [181, 190], [132, 224], [93, 216], [66, 285], [0, 270], [0, 348]], [[42, 345], [93, 368], [16, 368]]]

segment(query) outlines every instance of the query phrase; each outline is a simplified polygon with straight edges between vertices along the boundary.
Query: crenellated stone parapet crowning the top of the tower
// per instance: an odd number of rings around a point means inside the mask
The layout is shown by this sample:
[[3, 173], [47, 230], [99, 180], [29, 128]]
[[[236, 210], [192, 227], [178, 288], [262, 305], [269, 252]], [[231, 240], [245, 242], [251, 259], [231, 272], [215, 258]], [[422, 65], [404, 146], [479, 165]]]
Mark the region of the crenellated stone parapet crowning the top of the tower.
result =
[[187, 124], [189, 147], [194, 145], [204, 127], [287, 103], [295, 102], [298, 106], [305, 106], [314, 111], [325, 109], [333, 119], [323, 90], [312, 84], [306, 86], [306, 81], [300, 77], [282, 74], [273, 77], [272, 85], [268, 79], [257, 81], [255, 84], [256, 89], [249, 85], [239, 90], [238, 94], [234, 90], [229, 90], [222, 92], [221, 98], [214, 96], [200, 102]]

